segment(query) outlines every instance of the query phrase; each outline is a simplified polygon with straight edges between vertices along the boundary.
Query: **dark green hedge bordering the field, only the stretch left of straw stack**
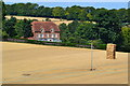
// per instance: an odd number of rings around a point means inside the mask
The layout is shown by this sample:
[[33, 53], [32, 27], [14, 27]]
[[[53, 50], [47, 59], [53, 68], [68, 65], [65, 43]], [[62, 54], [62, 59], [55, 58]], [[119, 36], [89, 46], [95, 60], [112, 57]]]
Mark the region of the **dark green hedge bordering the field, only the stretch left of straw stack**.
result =
[[[40, 44], [40, 45], [54, 45], [54, 46], [72, 46], [72, 47], [83, 47], [91, 48], [91, 44], [76, 44], [76, 43], [65, 43], [65, 42], [47, 42], [47, 41], [37, 41], [37, 40], [26, 40], [26, 39], [3, 39], [8, 42], [18, 42], [18, 43], [30, 43], [30, 44]], [[93, 48], [105, 49], [106, 44], [94, 44]]]

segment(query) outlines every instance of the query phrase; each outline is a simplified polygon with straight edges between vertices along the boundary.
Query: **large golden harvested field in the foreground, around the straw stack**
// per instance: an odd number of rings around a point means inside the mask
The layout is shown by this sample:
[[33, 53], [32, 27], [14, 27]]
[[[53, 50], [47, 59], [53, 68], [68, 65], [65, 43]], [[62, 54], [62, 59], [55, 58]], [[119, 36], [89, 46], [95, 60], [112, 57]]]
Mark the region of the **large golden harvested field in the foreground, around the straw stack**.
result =
[[106, 59], [105, 51], [1, 42], [5, 84], [127, 84], [128, 53]]

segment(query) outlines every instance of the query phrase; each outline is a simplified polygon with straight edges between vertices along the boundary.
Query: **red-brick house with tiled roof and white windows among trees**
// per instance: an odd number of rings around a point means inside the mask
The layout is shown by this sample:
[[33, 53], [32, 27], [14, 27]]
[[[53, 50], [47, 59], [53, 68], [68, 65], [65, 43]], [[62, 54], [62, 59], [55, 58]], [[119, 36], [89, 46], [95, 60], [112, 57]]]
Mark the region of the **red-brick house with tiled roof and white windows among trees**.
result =
[[53, 22], [32, 22], [31, 25], [34, 34], [31, 39], [38, 41], [61, 42], [60, 28]]

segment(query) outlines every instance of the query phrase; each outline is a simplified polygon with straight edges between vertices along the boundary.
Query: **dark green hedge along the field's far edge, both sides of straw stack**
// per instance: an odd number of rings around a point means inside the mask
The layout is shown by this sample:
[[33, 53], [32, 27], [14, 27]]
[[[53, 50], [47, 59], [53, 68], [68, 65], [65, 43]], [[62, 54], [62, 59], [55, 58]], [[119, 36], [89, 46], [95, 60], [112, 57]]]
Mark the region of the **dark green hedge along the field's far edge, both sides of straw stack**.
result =
[[[8, 42], [17, 42], [17, 43], [30, 43], [30, 44], [40, 44], [40, 45], [54, 45], [54, 46], [70, 46], [70, 47], [83, 47], [91, 48], [91, 44], [76, 44], [76, 43], [65, 43], [65, 42], [46, 42], [46, 41], [37, 41], [37, 40], [26, 40], [26, 39], [2, 39], [2, 41]], [[94, 44], [94, 49], [106, 49], [106, 44]], [[117, 52], [127, 52], [130, 53], [130, 45], [118, 45]]]

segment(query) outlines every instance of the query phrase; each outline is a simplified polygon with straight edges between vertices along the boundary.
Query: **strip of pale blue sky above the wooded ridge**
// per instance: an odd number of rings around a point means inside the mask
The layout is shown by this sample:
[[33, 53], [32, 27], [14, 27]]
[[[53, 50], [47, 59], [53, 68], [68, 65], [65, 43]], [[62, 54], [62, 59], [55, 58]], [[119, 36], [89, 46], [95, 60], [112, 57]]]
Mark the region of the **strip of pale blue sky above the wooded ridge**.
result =
[[44, 5], [49, 8], [54, 6], [94, 6], [94, 8], [105, 8], [105, 9], [128, 9], [129, 0], [3, 0], [5, 4], [13, 4], [18, 2], [31, 2], [38, 3], [39, 5]]

